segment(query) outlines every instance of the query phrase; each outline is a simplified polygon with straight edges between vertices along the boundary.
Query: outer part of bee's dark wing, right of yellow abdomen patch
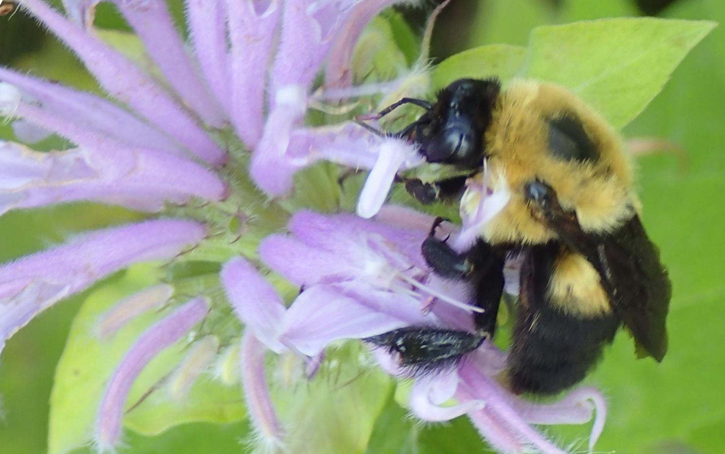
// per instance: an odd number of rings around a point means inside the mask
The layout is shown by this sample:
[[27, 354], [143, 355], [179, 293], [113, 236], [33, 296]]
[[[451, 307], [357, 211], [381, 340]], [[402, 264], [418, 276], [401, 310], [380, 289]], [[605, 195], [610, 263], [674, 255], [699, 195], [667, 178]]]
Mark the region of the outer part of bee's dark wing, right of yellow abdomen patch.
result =
[[667, 351], [665, 319], [672, 293], [660, 253], [639, 217], [606, 235], [597, 247], [595, 267], [610, 294], [613, 311], [631, 331], [639, 353], [662, 361]]

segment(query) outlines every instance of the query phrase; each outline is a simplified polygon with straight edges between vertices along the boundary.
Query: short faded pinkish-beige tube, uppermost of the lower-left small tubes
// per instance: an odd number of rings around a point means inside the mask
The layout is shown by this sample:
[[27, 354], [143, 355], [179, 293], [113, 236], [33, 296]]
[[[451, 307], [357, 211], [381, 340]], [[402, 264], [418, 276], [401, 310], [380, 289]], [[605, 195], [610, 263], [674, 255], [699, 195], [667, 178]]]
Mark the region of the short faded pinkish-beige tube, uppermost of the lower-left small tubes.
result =
[[120, 300], [101, 316], [96, 324], [96, 335], [106, 339], [115, 335], [128, 321], [165, 304], [173, 293], [174, 288], [170, 285], [154, 285]]

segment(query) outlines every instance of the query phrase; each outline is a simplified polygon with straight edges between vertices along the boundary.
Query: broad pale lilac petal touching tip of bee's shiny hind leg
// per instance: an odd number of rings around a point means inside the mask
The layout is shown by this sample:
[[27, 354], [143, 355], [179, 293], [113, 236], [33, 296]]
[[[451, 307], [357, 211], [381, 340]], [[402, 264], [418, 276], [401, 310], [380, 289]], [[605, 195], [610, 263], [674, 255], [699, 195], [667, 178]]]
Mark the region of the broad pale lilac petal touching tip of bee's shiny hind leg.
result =
[[405, 326], [330, 287], [314, 285], [299, 294], [287, 310], [282, 339], [307, 356], [318, 355], [330, 342], [362, 339]]

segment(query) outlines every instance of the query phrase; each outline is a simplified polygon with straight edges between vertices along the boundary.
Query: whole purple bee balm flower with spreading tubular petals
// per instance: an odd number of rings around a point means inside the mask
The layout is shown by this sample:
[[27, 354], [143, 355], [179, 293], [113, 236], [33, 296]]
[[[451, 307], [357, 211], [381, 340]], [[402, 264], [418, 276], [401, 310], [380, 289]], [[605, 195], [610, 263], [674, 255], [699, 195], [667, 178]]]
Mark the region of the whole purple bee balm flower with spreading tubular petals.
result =
[[[45, 308], [134, 264], [155, 261], [172, 271], [204, 264], [220, 274], [176, 279], [170, 272], [97, 321], [93, 332], [103, 339], [136, 316], [158, 314], [105, 385], [94, 424], [100, 450], [119, 444], [136, 378], [179, 342], [186, 356], [165, 377], [172, 398], [183, 400], [200, 375], [228, 359], [230, 345], [240, 345], [247, 413], [260, 440], [283, 449], [296, 421], [278, 416], [272, 371], [291, 356], [304, 369], [294, 379], [315, 380], [326, 351], [351, 340], [363, 341], [363, 355], [337, 367], [370, 367], [374, 358], [393, 377], [412, 380], [410, 411], [420, 419], [467, 415], [501, 452], [563, 453], [531, 424], [584, 423], [596, 410], [591, 448], [604, 418], [595, 390], [529, 403], [498, 384], [505, 352], [489, 342], [421, 375], [365, 341], [421, 324], [472, 329], [477, 310], [465, 288], [436, 277], [421, 256], [432, 219], [383, 207], [394, 175], [422, 164], [415, 147], [371, 133], [349, 121], [352, 114], [325, 113], [341, 101], [370, 110], [379, 96], [428, 90], [411, 85], [425, 78], [425, 54], [391, 80], [360, 83], [365, 69], [352, 65], [365, 25], [394, 0], [187, 0], [189, 43], [165, 2], [111, 2], [144, 43], [151, 71], [100, 38], [93, 24], [99, 1], [64, 0], [65, 15], [43, 0], [20, 2], [109, 98], [0, 68], [0, 112], [15, 119], [17, 139], [55, 134], [72, 144], [46, 153], [0, 143], [0, 214], [93, 201], [148, 219], [1, 266], [0, 347]], [[373, 219], [315, 212], [350, 209], [344, 200], [357, 194], [344, 185], [345, 170], [329, 162], [370, 169], [357, 212]], [[446, 227], [461, 247], [508, 201], [505, 184], [491, 190], [486, 181], [463, 230]], [[507, 288], [515, 292], [513, 259], [509, 268]], [[230, 306], [241, 324], [225, 323]], [[314, 412], [315, 401], [307, 408]]]

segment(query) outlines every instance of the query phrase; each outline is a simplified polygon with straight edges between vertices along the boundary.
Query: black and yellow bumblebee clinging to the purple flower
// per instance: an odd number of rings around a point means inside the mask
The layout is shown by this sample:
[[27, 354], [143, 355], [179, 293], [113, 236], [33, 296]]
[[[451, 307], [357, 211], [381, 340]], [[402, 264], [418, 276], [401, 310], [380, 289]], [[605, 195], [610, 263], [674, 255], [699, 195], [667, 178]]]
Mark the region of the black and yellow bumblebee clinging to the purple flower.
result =
[[397, 133], [428, 162], [463, 175], [437, 182], [402, 179], [423, 203], [451, 200], [476, 209], [467, 185], [482, 180], [484, 161], [510, 190], [510, 201], [463, 253], [435, 236], [422, 245], [431, 269], [470, 283], [477, 332], [397, 329], [370, 342], [397, 352], [403, 365], [434, 369], [492, 337], [503, 268], [521, 258], [520, 293], [505, 382], [517, 393], [553, 394], [581, 381], [620, 327], [640, 356], [661, 361], [671, 283], [639, 219], [631, 162], [616, 131], [558, 85], [462, 79]]

